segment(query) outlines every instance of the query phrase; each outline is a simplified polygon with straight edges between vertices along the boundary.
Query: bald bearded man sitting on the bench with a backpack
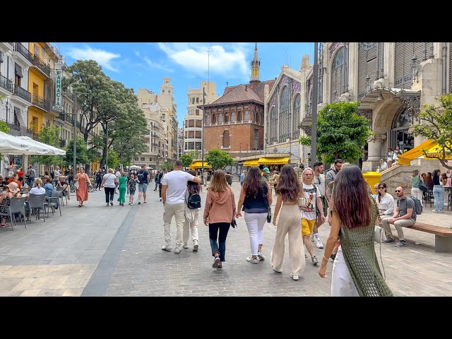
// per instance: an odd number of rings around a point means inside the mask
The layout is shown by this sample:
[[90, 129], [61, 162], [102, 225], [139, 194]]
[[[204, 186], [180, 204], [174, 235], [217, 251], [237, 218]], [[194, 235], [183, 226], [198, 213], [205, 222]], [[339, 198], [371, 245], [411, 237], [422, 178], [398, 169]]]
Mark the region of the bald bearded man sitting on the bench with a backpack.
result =
[[394, 243], [393, 233], [391, 232], [391, 226], [393, 224], [396, 227], [398, 234], [398, 243], [396, 247], [407, 246], [405, 238], [403, 237], [402, 227], [408, 227], [415, 225], [416, 211], [415, 202], [409, 196], [405, 196], [405, 188], [398, 186], [396, 188], [397, 206], [394, 209], [394, 214], [391, 218], [381, 220], [384, 233], [386, 234], [386, 240], [384, 242]]

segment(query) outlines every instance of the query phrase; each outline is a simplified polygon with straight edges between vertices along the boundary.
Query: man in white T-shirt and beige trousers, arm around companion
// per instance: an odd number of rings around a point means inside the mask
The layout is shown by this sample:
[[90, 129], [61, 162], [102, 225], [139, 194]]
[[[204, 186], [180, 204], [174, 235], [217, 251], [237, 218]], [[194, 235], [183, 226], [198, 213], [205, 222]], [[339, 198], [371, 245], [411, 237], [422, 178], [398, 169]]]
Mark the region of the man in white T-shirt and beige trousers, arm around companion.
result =
[[162, 177], [162, 202], [163, 202], [163, 232], [165, 235], [165, 246], [162, 250], [171, 251], [171, 220], [174, 215], [176, 220], [176, 248], [174, 253], [181, 253], [182, 232], [184, 230], [185, 218], [185, 191], [187, 182], [201, 183], [201, 179], [182, 172], [182, 161], [174, 162], [173, 171]]

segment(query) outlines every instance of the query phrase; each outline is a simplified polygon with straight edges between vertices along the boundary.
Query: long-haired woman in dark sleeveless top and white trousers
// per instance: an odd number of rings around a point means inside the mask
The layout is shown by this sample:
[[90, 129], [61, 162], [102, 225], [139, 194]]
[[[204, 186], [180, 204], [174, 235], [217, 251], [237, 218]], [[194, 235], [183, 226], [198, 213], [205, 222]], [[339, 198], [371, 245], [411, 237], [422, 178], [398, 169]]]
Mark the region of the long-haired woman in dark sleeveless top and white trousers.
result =
[[237, 218], [242, 216], [240, 211], [243, 206], [244, 218], [249, 233], [249, 244], [251, 246], [251, 256], [246, 258], [249, 263], [258, 263], [258, 259], [265, 259], [262, 254], [263, 225], [266, 223], [268, 206], [271, 203], [270, 184], [262, 179], [259, 167], [251, 167], [240, 190], [236, 215]]

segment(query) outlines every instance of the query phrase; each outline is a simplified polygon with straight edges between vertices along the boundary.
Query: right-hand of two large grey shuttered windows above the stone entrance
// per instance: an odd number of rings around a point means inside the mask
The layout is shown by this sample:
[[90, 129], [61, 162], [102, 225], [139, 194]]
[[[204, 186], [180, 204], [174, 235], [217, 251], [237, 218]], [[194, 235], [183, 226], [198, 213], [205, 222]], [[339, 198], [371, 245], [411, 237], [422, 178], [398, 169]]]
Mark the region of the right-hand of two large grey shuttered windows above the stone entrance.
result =
[[[424, 42], [396, 42], [394, 53], [394, 87], [411, 89], [411, 64], [413, 54], [417, 61], [424, 57]], [[427, 57], [429, 44], [427, 44]]]

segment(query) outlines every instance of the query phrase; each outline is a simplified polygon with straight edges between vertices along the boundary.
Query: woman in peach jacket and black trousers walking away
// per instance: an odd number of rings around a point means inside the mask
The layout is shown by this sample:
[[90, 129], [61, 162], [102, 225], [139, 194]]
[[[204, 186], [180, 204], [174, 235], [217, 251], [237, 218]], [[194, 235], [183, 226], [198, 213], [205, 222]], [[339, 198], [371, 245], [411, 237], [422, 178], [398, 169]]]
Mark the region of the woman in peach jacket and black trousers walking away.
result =
[[225, 261], [226, 237], [232, 216], [236, 214], [234, 193], [226, 182], [225, 172], [217, 169], [207, 190], [204, 225], [209, 227], [213, 268], [222, 270]]

